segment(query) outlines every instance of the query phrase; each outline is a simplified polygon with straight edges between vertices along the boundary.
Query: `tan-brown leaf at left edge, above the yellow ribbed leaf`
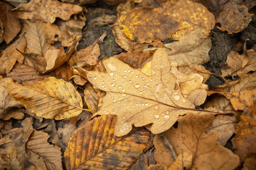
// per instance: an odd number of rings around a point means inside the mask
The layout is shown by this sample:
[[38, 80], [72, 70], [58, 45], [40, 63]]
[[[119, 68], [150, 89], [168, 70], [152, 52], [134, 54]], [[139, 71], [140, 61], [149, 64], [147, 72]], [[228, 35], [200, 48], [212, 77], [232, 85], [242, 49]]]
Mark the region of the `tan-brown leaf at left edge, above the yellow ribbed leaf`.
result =
[[23, 55], [16, 50], [18, 48], [21, 52], [24, 52], [26, 48], [26, 39], [17, 39], [12, 45], [8, 46], [2, 52], [0, 58], [0, 74], [9, 73], [16, 62], [23, 63]]

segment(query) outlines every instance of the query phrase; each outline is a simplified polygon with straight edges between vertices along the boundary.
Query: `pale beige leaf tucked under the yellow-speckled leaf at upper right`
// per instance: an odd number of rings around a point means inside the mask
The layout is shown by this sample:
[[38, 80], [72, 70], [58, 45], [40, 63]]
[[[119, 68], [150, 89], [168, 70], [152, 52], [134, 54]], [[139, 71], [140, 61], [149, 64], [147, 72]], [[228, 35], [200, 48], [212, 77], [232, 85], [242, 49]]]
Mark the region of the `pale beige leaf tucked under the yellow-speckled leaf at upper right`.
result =
[[165, 44], [168, 48], [169, 60], [179, 66], [187, 64], [204, 64], [210, 60], [208, 52], [211, 50], [211, 39], [201, 38], [202, 31], [196, 29], [179, 41]]

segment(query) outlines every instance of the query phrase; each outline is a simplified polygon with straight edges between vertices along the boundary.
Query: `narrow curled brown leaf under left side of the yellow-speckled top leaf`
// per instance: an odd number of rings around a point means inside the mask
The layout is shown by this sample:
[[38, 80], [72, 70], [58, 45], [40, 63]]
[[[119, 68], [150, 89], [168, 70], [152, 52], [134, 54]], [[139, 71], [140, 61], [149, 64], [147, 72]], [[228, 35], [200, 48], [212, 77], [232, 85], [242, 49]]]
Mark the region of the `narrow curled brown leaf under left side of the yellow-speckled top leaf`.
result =
[[120, 26], [117, 23], [111, 25], [111, 28], [115, 36], [116, 43], [127, 52], [134, 50], [143, 50], [144, 48], [148, 48], [147, 44], [138, 44], [136, 41], [132, 41], [127, 36], [125, 36], [125, 34], [121, 31]]

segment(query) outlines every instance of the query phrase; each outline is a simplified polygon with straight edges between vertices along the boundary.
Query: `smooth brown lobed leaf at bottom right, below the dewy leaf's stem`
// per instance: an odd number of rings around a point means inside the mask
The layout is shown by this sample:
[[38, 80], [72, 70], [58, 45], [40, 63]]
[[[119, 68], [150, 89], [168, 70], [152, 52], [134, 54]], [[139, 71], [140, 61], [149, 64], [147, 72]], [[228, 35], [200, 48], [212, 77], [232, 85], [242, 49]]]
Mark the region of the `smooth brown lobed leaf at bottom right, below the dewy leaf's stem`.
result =
[[172, 127], [164, 132], [177, 155], [193, 154], [191, 169], [235, 169], [239, 166], [237, 155], [216, 143], [217, 134], [205, 134], [213, 119], [211, 113], [191, 113], [180, 118], [177, 129]]

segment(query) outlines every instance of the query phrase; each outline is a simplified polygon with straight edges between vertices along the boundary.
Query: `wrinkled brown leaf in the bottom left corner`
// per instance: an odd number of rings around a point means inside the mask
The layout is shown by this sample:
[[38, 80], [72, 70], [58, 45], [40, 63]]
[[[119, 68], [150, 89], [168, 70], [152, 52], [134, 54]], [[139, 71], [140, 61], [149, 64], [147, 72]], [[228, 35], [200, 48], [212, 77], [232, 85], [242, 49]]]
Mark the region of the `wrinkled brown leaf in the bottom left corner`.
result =
[[8, 169], [24, 169], [26, 142], [33, 132], [33, 118], [22, 121], [22, 128], [14, 128], [6, 132], [6, 136], [0, 139], [0, 162]]

